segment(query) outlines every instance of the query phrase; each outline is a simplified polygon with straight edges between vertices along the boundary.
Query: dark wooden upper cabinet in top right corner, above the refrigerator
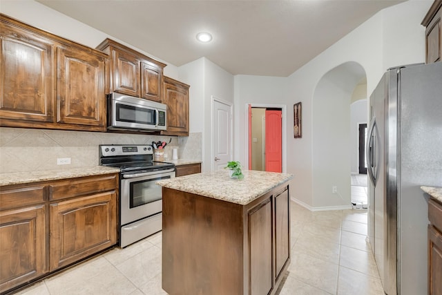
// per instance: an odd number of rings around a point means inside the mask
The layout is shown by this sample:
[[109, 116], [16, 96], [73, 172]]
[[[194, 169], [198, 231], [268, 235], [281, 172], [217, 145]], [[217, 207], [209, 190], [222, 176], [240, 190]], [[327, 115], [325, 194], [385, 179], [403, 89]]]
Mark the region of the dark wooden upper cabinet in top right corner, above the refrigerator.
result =
[[422, 21], [425, 26], [425, 62], [441, 61], [442, 55], [442, 1], [435, 0]]

